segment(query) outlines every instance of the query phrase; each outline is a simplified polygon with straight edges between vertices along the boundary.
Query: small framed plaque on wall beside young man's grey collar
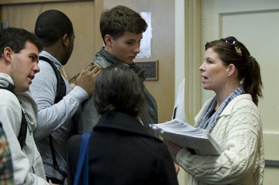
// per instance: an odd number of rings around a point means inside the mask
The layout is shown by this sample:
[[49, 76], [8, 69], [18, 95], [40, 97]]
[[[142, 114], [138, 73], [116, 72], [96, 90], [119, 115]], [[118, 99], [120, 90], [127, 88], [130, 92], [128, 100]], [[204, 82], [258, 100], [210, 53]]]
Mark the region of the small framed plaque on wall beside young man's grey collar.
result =
[[144, 68], [146, 73], [145, 80], [158, 80], [158, 61], [141, 61], [135, 63]]

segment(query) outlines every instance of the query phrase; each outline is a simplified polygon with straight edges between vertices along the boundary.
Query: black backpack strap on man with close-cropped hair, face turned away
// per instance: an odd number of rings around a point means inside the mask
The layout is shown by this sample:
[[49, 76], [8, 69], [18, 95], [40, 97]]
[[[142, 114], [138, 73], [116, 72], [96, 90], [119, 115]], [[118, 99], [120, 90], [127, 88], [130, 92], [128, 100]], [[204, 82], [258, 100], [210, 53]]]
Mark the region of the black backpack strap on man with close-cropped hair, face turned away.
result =
[[[57, 70], [56, 65], [50, 60], [50, 58], [47, 58], [45, 56], [39, 56], [39, 60], [49, 63], [52, 66], [52, 69], [54, 70], [54, 73], [55, 73], [55, 76], [57, 79], [56, 96], [54, 99], [54, 104], [56, 104], [56, 103], [60, 102], [61, 99], [63, 99], [63, 97], [66, 95], [65, 81], [64, 81], [61, 73], [59, 72], [59, 70]], [[54, 150], [54, 145], [53, 145], [53, 141], [52, 141], [52, 135], [50, 135], [49, 141], [50, 141], [50, 150], [52, 152], [52, 161], [53, 161], [54, 169], [59, 170], [59, 166], [56, 161], [55, 150]]]

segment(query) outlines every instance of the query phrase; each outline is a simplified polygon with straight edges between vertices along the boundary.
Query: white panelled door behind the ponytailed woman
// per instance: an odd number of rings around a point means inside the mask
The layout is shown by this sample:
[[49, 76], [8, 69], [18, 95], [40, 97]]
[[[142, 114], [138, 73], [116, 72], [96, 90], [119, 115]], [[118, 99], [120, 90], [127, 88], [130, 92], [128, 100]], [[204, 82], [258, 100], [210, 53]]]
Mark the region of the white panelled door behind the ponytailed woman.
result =
[[[279, 1], [203, 0], [202, 43], [229, 35], [246, 45], [261, 66], [264, 184], [279, 184]], [[211, 96], [202, 90], [202, 102]]]

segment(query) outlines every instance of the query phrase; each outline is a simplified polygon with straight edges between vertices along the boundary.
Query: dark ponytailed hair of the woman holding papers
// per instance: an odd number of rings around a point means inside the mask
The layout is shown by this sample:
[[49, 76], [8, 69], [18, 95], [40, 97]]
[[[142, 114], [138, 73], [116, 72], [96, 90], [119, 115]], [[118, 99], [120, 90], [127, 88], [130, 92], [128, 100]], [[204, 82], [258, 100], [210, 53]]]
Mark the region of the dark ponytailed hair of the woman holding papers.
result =
[[243, 80], [245, 92], [252, 96], [252, 101], [257, 105], [262, 97], [262, 77], [259, 63], [250, 55], [248, 49], [232, 36], [206, 42], [205, 49], [209, 48], [218, 54], [223, 65], [234, 64], [237, 78], [239, 81]]

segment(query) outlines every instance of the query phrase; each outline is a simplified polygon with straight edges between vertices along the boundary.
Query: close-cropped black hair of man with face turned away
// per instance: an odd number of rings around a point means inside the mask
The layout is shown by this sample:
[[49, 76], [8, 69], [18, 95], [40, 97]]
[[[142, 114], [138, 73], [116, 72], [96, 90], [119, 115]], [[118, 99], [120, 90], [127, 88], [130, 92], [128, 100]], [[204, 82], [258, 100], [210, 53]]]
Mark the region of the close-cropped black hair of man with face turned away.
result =
[[35, 35], [44, 47], [54, 45], [63, 35], [73, 35], [73, 24], [70, 19], [59, 10], [46, 10], [36, 20]]

